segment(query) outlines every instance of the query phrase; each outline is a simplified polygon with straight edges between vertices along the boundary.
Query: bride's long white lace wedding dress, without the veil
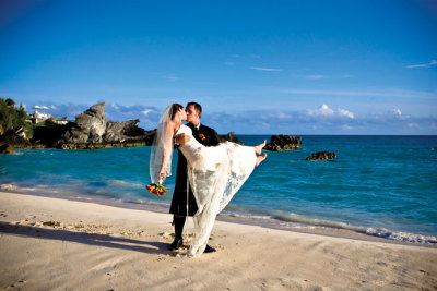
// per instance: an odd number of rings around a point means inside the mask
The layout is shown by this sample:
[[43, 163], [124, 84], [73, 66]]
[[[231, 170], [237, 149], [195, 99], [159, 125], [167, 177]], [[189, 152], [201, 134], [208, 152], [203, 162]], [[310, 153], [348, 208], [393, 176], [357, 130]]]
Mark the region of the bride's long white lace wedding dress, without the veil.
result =
[[196, 256], [206, 247], [216, 215], [253, 171], [257, 155], [253, 147], [229, 142], [206, 147], [184, 124], [176, 135], [180, 133], [191, 136], [187, 144], [180, 145], [179, 150], [187, 158], [188, 177], [199, 208], [193, 217], [194, 239], [187, 253], [188, 256]]

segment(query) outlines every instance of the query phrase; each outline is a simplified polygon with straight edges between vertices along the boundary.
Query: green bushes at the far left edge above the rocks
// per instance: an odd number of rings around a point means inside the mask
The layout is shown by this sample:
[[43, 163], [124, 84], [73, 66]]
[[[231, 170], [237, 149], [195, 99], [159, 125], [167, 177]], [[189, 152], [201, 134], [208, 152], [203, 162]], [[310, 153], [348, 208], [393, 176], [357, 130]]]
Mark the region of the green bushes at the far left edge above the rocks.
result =
[[22, 104], [16, 109], [14, 100], [0, 97], [0, 126], [3, 131], [24, 126], [26, 119], [27, 112]]

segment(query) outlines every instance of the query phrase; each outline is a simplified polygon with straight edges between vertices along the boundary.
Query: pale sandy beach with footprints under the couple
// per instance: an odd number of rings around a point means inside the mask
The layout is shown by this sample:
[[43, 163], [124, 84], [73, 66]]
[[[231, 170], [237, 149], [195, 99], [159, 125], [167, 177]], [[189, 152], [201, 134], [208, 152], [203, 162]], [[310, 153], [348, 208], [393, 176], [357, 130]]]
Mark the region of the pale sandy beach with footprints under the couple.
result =
[[[0, 192], [2, 290], [436, 290], [437, 248], [217, 221], [176, 257], [167, 214]], [[185, 240], [189, 241], [189, 222]]]

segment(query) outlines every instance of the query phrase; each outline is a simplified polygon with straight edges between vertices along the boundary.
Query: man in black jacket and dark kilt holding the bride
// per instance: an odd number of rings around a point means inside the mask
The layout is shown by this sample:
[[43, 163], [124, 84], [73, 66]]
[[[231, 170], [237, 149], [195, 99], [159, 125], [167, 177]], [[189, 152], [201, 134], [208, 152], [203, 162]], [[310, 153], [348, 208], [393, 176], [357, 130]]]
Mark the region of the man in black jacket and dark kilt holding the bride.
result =
[[[192, 136], [204, 146], [218, 145], [217, 133], [200, 123], [202, 116], [202, 107], [197, 102], [189, 102], [186, 107], [187, 111], [187, 126], [192, 130]], [[184, 136], [178, 136], [177, 142], [184, 144]], [[186, 136], [189, 138], [189, 136]], [[187, 201], [188, 198], [188, 201]], [[178, 250], [182, 245], [182, 231], [186, 217], [194, 216], [198, 211], [194, 195], [192, 194], [191, 186], [189, 185], [187, 175], [187, 159], [182, 153], [178, 150], [178, 166], [176, 172], [175, 192], [173, 193], [170, 214], [173, 214], [173, 223], [175, 225], [175, 240], [169, 246], [170, 251]], [[206, 245], [204, 253], [215, 252], [215, 248]]]

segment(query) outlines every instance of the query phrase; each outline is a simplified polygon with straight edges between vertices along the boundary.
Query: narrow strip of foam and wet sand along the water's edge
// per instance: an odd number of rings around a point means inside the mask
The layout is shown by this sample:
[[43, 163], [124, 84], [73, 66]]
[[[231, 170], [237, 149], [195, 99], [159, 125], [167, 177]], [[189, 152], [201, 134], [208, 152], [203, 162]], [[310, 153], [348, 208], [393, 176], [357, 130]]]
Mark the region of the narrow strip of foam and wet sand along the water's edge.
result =
[[[167, 205], [166, 203], [121, 201], [105, 196], [86, 195], [83, 193], [67, 193], [66, 196], [64, 195], [66, 193], [59, 191], [50, 192], [50, 190], [42, 191], [40, 189], [26, 189], [26, 187], [20, 187], [16, 190], [9, 190], [9, 191], [1, 189], [0, 194], [2, 192], [19, 194], [19, 195], [35, 195], [42, 197], [54, 197], [66, 201], [94, 203], [98, 205], [118, 207], [122, 209], [134, 209], [134, 210], [152, 211], [157, 214], [166, 214], [168, 215], [169, 222], [172, 222], [173, 219], [172, 215], [168, 213], [169, 205]], [[233, 213], [226, 213], [225, 210], [224, 213], [217, 216], [216, 220], [231, 223], [238, 223], [238, 225], [258, 226], [267, 229], [327, 235], [332, 238], [343, 238], [343, 239], [353, 239], [353, 240], [361, 240], [368, 242], [381, 242], [381, 243], [412, 245], [412, 246], [437, 247], [437, 243], [421, 243], [421, 242], [409, 242], [409, 241], [388, 239], [383, 237], [368, 234], [365, 231], [358, 231], [353, 228], [346, 229], [346, 228], [305, 225], [298, 222], [277, 220], [273, 217], [265, 218], [260, 216], [235, 215]]]

